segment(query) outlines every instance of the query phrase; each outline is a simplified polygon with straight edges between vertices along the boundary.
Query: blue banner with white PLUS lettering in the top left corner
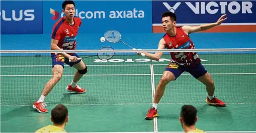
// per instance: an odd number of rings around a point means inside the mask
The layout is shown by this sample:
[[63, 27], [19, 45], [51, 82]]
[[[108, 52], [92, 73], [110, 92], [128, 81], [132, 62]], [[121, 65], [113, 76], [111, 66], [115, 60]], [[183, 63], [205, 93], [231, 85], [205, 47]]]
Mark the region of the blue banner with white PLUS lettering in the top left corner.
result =
[[43, 33], [43, 1], [1, 1], [1, 34]]

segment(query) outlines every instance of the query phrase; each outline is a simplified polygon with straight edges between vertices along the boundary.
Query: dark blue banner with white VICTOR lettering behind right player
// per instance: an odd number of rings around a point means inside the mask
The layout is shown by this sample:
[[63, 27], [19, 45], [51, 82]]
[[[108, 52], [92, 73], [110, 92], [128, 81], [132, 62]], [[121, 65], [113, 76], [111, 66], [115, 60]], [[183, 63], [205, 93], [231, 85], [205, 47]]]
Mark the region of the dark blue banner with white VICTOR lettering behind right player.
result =
[[177, 23], [216, 22], [222, 14], [228, 17], [223, 23], [256, 23], [254, 6], [253, 0], [154, 0], [152, 23], [161, 23], [161, 13], [165, 11], [175, 12]]

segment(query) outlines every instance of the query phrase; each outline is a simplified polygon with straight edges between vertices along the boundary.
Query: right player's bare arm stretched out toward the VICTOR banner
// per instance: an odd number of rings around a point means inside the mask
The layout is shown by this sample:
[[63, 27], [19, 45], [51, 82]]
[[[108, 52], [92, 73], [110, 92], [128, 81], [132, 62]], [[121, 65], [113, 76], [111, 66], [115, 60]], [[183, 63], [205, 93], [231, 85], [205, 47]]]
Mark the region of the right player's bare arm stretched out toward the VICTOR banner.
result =
[[207, 30], [209, 28], [212, 28], [212, 27], [215, 27], [217, 25], [220, 25], [226, 19], [227, 19], [226, 14], [224, 14], [214, 23], [206, 23], [206, 24], [202, 24], [200, 26], [188, 26], [188, 25], [185, 25], [182, 28], [183, 28], [183, 30], [187, 34], [193, 33], [193, 32], [198, 32], [198, 31], [204, 31], [204, 30]]

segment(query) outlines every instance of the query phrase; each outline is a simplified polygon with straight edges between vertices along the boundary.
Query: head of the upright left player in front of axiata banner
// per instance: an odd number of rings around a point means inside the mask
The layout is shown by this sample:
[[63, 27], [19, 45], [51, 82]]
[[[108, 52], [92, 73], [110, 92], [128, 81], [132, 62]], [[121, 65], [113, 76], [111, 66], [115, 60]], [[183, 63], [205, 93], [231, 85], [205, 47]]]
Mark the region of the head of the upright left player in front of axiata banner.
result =
[[65, 14], [65, 16], [69, 19], [72, 19], [74, 17], [75, 12], [75, 4], [72, 0], [65, 0], [62, 3], [62, 12]]

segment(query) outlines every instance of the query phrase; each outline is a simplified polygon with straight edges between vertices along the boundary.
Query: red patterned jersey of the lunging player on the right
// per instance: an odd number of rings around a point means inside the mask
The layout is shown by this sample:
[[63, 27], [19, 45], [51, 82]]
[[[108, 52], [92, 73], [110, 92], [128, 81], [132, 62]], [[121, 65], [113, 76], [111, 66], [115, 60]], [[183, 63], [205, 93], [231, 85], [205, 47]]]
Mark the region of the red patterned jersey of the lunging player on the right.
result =
[[[175, 36], [170, 36], [167, 33], [163, 36], [167, 49], [195, 49], [194, 43], [184, 32], [182, 26], [175, 28], [177, 29]], [[197, 52], [170, 52], [170, 56], [173, 61], [184, 66], [193, 66], [201, 62]]]

